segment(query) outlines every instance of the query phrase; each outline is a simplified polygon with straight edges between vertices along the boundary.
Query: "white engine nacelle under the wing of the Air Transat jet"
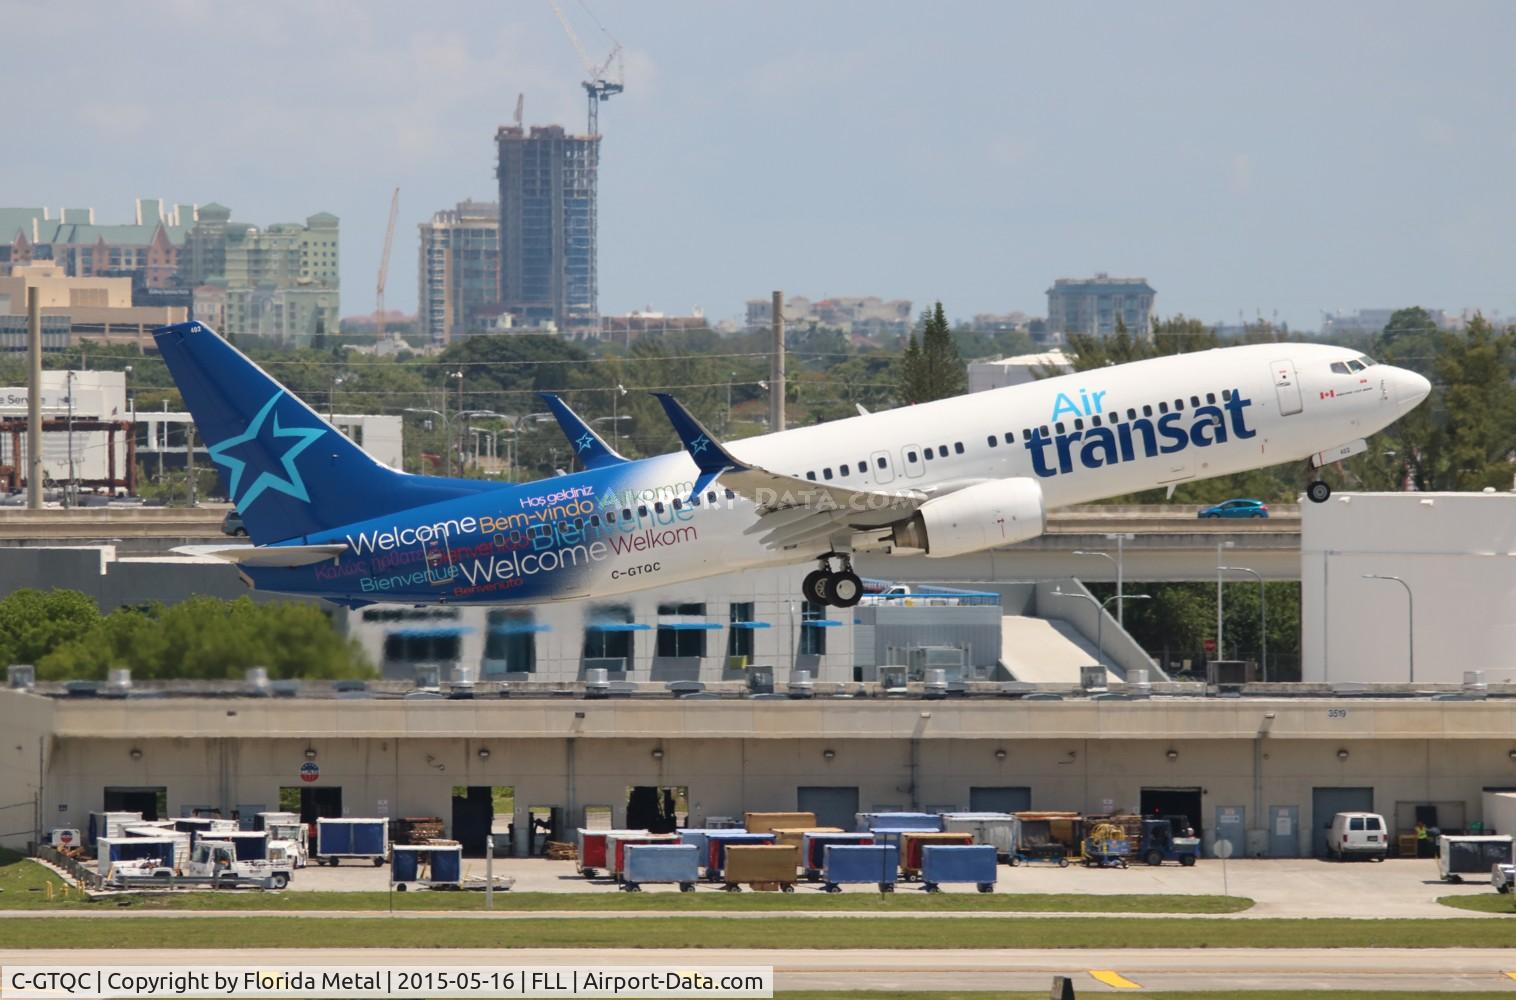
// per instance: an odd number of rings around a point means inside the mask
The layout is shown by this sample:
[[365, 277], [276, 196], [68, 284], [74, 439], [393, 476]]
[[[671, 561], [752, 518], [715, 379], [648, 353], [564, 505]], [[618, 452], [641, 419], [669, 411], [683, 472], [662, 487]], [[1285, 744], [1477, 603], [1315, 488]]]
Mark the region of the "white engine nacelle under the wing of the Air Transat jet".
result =
[[1037, 538], [1046, 524], [1041, 486], [1035, 480], [996, 479], [928, 500], [910, 520], [894, 526], [890, 539], [934, 558], [961, 556]]

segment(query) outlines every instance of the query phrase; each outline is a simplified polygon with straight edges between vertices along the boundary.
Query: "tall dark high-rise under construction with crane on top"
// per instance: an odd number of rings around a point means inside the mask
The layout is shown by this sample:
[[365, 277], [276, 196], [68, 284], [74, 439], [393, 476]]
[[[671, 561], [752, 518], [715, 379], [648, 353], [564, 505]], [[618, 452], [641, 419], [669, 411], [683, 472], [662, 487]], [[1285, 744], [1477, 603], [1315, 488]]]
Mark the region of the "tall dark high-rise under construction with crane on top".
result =
[[500, 306], [522, 326], [594, 327], [599, 135], [502, 126]]

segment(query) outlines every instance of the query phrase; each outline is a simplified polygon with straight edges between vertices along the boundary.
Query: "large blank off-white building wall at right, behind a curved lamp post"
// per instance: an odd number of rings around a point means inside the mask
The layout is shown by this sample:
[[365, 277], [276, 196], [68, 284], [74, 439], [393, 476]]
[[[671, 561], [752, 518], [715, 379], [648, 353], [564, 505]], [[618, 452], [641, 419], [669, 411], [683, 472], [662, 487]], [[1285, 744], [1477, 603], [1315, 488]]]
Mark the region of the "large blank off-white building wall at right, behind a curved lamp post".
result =
[[[1366, 580], [1364, 573], [1398, 576]], [[1302, 679], [1516, 677], [1516, 495], [1339, 494], [1301, 508]]]

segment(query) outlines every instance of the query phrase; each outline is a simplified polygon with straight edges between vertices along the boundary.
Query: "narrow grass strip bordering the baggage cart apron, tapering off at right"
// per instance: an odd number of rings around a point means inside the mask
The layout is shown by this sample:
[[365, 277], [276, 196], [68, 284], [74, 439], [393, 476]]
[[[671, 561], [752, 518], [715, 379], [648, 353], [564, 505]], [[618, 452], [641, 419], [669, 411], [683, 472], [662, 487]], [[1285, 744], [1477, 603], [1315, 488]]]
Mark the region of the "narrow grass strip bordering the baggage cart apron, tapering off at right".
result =
[[[32, 865], [33, 868], [36, 865]], [[299, 876], [296, 876], [299, 877]], [[3, 898], [3, 897], [0, 897]], [[99, 903], [53, 903], [53, 908], [214, 909], [214, 911], [482, 911], [484, 892], [179, 892], [173, 895], [115, 895]], [[36, 898], [23, 906], [49, 906]], [[785, 912], [796, 909], [847, 914], [999, 911], [1029, 914], [1236, 914], [1252, 900], [1236, 895], [1076, 895], [978, 892], [496, 892], [494, 909], [503, 912], [575, 911], [605, 914], [623, 911], [740, 911]], [[8, 906], [0, 905], [0, 909]]]

